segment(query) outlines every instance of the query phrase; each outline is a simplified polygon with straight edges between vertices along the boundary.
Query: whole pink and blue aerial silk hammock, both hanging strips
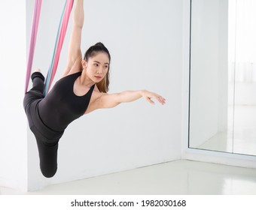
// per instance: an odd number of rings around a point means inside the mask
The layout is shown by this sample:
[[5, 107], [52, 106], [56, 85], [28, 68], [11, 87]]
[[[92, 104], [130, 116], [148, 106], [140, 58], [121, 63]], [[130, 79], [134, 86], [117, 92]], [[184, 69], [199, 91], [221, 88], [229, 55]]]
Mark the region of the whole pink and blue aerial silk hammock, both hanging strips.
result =
[[[35, 43], [36, 37], [38, 32], [38, 25], [39, 25], [39, 17], [41, 12], [41, 1], [42, 0], [35, 0], [35, 8], [34, 8], [34, 16], [32, 22], [32, 31], [29, 43], [29, 55], [28, 55], [28, 62], [27, 62], [27, 69], [26, 69], [26, 86], [25, 86], [25, 93], [27, 92], [29, 86], [29, 79], [32, 70], [32, 62], [34, 58], [35, 52]], [[62, 16], [59, 21], [59, 28], [56, 35], [56, 42], [53, 50], [53, 57], [50, 63], [50, 67], [48, 69], [47, 77], [44, 84], [44, 96], [47, 95], [49, 92], [50, 86], [53, 83], [54, 76], [56, 74], [56, 69], [59, 63], [59, 55], [62, 49], [62, 44], [65, 39], [66, 30], [68, 28], [69, 17], [72, 11], [74, 0], [66, 0], [65, 6], [62, 10]]]

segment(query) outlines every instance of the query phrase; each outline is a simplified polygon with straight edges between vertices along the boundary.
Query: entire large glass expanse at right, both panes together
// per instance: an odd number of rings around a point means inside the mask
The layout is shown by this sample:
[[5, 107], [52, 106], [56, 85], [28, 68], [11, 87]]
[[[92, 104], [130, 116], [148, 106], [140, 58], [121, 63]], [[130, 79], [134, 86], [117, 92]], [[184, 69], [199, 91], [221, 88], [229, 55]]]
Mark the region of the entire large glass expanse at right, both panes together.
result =
[[190, 148], [256, 155], [255, 10], [191, 0]]

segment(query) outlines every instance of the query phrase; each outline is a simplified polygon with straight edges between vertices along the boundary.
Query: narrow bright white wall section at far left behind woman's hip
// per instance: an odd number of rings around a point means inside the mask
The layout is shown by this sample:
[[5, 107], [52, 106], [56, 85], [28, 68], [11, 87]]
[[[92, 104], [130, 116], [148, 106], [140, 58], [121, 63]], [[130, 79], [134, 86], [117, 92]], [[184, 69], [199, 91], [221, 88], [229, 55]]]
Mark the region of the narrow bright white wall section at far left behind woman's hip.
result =
[[27, 128], [23, 111], [26, 7], [0, 1], [0, 185], [27, 189]]

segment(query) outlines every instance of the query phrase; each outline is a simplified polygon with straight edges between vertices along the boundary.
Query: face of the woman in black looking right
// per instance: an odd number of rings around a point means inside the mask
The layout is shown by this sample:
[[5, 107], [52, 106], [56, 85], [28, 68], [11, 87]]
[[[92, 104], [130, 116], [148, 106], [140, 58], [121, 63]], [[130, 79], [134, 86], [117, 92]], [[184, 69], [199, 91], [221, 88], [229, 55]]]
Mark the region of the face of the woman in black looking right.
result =
[[94, 83], [99, 83], [108, 73], [109, 59], [105, 52], [99, 52], [85, 62], [87, 76]]

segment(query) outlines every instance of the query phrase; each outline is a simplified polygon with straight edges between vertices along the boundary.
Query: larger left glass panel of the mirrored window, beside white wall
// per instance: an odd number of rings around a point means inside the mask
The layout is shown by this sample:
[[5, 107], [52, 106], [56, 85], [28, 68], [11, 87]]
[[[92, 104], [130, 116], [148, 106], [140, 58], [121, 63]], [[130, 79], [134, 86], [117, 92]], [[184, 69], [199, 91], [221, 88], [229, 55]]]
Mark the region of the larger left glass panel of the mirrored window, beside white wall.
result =
[[190, 27], [190, 148], [232, 152], [228, 0], [191, 1]]

